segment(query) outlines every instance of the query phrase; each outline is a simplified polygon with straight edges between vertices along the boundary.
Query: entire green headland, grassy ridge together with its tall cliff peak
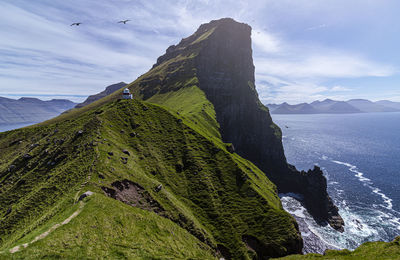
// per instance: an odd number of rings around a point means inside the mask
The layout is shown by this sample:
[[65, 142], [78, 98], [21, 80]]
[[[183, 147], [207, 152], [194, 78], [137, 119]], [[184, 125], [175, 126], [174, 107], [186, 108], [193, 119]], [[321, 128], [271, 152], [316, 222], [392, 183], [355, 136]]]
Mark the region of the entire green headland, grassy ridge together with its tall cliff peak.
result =
[[[133, 100], [122, 99], [123, 87]], [[0, 257], [301, 254], [278, 192], [300, 194], [318, 223], [343, 231], [322, 170], [286, 161], [281, 130], [255, 89], [247, 24], [202, 24], [122, 88], [0, 133]], [[396, 244], [371, 243], [361, 254], [398, 256]], [[360, 251], [328, 254], [357, 259]]]

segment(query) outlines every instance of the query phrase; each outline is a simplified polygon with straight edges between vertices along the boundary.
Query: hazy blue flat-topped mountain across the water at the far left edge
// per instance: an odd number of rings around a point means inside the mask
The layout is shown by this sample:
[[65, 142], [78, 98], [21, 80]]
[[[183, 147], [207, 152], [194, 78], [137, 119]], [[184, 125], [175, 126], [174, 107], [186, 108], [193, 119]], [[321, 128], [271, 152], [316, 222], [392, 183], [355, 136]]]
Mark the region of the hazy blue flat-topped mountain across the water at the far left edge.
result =
[[73, 108], [66, 99], [43, 101], [37, 98], [10, 99], [0, 97], [0, 124], [39, 123]]

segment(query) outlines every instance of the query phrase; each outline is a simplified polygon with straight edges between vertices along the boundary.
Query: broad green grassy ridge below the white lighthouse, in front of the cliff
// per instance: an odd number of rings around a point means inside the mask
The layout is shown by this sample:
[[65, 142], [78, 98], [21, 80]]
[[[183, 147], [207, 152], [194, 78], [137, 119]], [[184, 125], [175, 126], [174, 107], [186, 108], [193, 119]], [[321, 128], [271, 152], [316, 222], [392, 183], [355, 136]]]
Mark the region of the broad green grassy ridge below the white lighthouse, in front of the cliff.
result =
[[[98, 195], [89, 198], [75, 219], [21, 248], [15, 256], [90, 257], [102, 252], [100, 255], [111, 257], [120, 252], [121, 258], [135, 254], [146, 258], [159, 245], [160, 254], [155, 256], [160, 258], [170, 257], [170, 250], [185, 248], [182, 258], [209, 257], [210, 252], [226, 254], [228, 250], [238, 259], [257, 253], [285, 255], [298, 248], [296, 223], [282, 209], [275, 186], [253, 164], [226, 150], [215, 131], [218, 126], [212, 107], [199, 89], [192, 86], [174, 93], [205, 103], [189, 106], [182, 102], [181, 108], [175, 107], [181, 111], [177, 114], [172, 105], [164, 109], [137, 100], [105, 102], [75, 116], [1, 133], [0, 251], [29, 243], [59, 223], [73, 212], [77, 197], [87, 190]], [[174, 97], [158, 98], [167, 103]], [[206, 125], [214, 125], [214, 129]], [[106, 193], [130, 206], [122, 209], [121, 202], [100, 195]], [[104, 223], [103, 217], [110, 214], [90, 210], [103, 200], [107, 210], [131, 210], [121, 213], [133, 214], [121, 225], [138, 228], [132, 231], [135, 234], [140, 228], [128, 226], [145, 216], [149, 222], [145, 225], [143, 221], [143, 228], [150, 233], [155, 221], [165, 224], [160, 227], [164, 231], [179, 229], [174, 233], [182, 239], [174, 249], [165, 246], [171, 239], [167, 235], [143, 235], [137, 238], [147, 245], [141, 252], [133, 247], [119, 250], [118, 245], [107, 249], [104, 241], [126, 245], [135, 238], [130, 232], [110, 231], [114, 230], [111, 224], [96, 225], [95, 232], [79, 224], [94, 221], [97, 214], [99, 223]], [[78, 238], [90, 237], [92, 243], [69, 237], [73, 230], [80, 230]], [[54, 244], [46, 243], [53, 240]], [[72, 249], [74, 243], [80, 244]]]

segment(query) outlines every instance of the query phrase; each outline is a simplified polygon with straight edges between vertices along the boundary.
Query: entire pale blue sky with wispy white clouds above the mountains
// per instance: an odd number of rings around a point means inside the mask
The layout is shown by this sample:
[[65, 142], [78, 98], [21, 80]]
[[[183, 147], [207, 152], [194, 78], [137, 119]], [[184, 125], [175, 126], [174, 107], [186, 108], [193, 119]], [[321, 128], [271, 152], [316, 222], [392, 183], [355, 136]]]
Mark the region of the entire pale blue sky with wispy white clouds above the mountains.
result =
[[0, 96], [83, 101], [232, 17], [253, 28], [263, 103], [400, 101], [399, 10], [397, 0], [1, 0]]

